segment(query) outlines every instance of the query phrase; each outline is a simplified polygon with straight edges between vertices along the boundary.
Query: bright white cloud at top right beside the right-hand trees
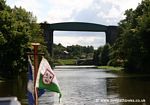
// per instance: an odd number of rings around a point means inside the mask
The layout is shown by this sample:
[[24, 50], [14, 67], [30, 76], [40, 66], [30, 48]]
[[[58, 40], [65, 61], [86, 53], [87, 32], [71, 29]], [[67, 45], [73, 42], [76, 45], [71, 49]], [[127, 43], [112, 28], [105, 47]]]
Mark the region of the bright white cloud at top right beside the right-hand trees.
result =
[[100, 12], [98, 16], [105, 18], [108, 22], [119, 22], [125, 18], [125, 10], [130, 8], [135, 9], [141, 1], [142, 0], [102, 0], [104, 5], [111, 5], [111, 8], [106, 12]]

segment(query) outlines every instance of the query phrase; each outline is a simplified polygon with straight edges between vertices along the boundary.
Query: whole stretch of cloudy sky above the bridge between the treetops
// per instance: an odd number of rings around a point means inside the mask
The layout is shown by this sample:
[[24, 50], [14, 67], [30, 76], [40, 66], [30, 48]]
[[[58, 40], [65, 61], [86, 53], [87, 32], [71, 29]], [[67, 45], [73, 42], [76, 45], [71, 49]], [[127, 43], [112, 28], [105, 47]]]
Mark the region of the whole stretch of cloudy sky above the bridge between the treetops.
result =
[[38, 22], [84, 21], [116, 25], [128, 8], [142, 0], [7, 0], [11, 7], [22, 6]]

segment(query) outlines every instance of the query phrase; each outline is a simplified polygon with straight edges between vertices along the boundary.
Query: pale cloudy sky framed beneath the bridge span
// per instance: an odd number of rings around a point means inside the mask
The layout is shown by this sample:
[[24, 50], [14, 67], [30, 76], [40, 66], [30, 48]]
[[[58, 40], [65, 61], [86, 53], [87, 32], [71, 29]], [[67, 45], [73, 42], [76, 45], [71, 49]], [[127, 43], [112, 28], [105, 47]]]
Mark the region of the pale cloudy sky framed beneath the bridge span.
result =
[[[66, 33], [67, 34], [67, 33]], [[93, 35], [95, 34], [95, 35]], [[54, 33], [54, 43], [58, 44], [61, 43], [64, 46], [71, 46], [71, 45], [82, 45], [82, 46], [94, 46], [98, 48], [99, 46], [103, 46], [106, 43], [105, 40], [106, 36], [104, 33], [75, 33], [72, 35], [70, 32], [68, 35], [58, 35]]]

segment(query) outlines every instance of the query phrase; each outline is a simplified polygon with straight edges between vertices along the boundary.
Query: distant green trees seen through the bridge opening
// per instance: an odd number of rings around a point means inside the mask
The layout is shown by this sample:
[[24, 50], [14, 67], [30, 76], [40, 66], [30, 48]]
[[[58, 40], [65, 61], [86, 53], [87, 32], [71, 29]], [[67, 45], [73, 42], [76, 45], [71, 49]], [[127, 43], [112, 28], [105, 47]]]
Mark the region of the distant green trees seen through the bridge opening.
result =
[[72, 45], [64, 47], [61, 44], [54, 44], [53, 46], [55, 59], [81, 59], [93, 57], [93, 46]]

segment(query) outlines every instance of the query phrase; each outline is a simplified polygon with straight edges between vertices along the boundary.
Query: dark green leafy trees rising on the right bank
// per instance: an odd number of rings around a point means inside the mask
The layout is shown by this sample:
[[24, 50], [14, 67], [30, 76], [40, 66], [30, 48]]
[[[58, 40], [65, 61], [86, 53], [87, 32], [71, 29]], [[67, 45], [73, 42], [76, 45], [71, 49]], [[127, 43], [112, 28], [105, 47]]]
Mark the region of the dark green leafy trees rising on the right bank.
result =
[[129, 71], [148, 71], [150, 65], [150, 1], [143, 0], [135, 10], [125, 12], [119, 23], [120, 37], [113, 46], [111, 59]]

